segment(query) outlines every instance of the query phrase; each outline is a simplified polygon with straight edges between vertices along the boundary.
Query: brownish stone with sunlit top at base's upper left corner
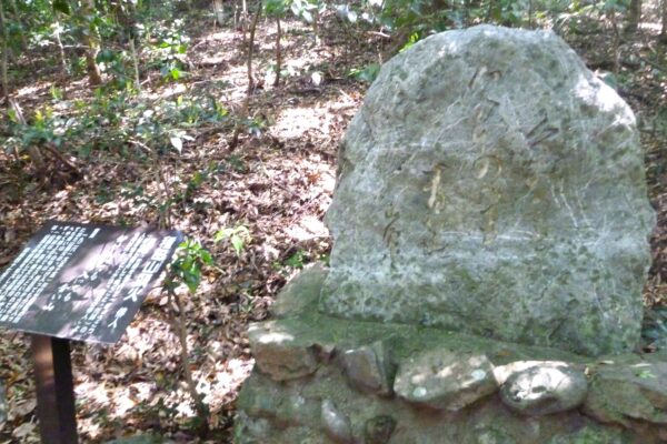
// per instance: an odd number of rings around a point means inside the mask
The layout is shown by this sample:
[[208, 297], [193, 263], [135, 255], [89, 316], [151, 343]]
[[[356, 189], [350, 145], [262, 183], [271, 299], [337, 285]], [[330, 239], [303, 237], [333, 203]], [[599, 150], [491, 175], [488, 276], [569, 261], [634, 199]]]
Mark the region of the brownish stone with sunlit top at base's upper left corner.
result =
[[267, 323], [248, 329], [252, 355], [259, 370], [276, 381], [307, 376], [318, 367], [317, 347]]

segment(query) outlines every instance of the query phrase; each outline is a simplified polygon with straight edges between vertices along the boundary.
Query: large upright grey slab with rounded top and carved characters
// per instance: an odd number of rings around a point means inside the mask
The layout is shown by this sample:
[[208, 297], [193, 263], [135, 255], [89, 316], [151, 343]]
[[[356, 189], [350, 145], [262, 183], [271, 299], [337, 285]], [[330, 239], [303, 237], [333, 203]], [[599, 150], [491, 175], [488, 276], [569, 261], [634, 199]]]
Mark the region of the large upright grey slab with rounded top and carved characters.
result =
[[587, 355], [638, 341], [635, 118], [556, 34], [480, 26], [396, 56], [339, 165], [322, 312]]

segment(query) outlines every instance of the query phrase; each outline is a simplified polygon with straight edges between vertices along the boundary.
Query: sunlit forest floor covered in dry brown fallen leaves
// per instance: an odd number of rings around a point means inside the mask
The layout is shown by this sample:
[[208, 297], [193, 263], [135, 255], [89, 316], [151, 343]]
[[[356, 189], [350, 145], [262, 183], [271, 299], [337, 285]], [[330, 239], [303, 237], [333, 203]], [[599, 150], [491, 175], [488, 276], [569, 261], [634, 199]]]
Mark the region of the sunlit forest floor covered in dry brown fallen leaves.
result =
[[[322, 219], [335, 185], [337, 145], [367, 89], [349, 72], [378, 62], [392, 43], [370, 29], [344, 29], [335, 18], [325, 17], [322, 23], [319, 41], [301, 22], [283, 23], [288, 74], [273, 87], [265, 73], [275, 60], [277, 30], [273, 21], [259, 22], [258, 88], [249, 102], [253, 124], [236, 147], [230, 144], [232, 125], [202, 124], [188, 131], [192, 140], [186, 139], [180, 153], [140, 154], [146, 150], [137, 142], [72, 157], [76, 175], [57, 159], [37, 174], [24, 159], [19, 163], [11, 152], [0, 152], [0, 268], [49, 219], [142, 225], [157, 224], [168, 213], [171, 226], [211, 251], [216, 266], [205, 269], [195, 295], [182, 294], [190, 367], [211, 414], [206, 442], [230, 442], [235, 398], [253, 364], [248, 323], [267, 317], [277, 292], [299, 269], [327, 259], [330, 239]], [[650, 24], [625, 36], [616, 48], [609, 26], [593, 21], [578, 28], [564, 38], [593, 70], [613, 71], [619, 53], [613, 81], [639, 118], [650, 199], [659, 214], [645, 291], [654, 319], [667, 303], [667, 46]], [[210, 97], [241, 112], [248, 84], [243, 33], [210, 20], [192, 21], [188, 29], [189, 75], [166, 83], [148, 74], [141, 95], [155, 103]], [[72, 101], [92, 100], [84, 78], [69, 84], [68, 100], [53, 97], [57, 82], [53, 69], [33, 72], [14, 98], [24, 112], [48, 105], [63, 114], [74, 112]], [[103, 131], [102, 112], [99, 119]], [[249, 233], [239, 254], [227, 241], [213, 242], [219, 230], [239, 226]], [[167, 297], [153, 292], [118, 344], [74, 344], [81, 442], [146, 431], [199, 442], [172, 311]], [[0, 333], [0, 381], [9, 403], [0, 444], [39, 442], [31, 366], [27, 336]]]

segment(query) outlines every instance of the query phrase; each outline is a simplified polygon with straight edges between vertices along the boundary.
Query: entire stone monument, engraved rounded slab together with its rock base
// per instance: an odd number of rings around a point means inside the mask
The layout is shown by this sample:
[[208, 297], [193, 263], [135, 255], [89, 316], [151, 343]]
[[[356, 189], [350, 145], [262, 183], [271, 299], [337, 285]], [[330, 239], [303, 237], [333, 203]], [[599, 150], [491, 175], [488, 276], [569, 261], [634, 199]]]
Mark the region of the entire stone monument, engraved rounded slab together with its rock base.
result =
[[251, 326], [240, 443], [667, 443], [634, 354], [655, 223], [635, 118], [557, 36], [387, 62], [351, 122], [330, 268]]

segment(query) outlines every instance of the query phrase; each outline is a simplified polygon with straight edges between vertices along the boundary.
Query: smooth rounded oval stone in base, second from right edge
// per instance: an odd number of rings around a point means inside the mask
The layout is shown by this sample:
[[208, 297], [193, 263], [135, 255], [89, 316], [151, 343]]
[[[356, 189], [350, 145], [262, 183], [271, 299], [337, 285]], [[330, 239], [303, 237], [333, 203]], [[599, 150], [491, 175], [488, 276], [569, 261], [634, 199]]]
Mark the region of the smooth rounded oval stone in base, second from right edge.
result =
[[500, 398], [524, 415], [546, 415], [578, 407], [586, 397], [584, 372], [566, 364], [542, 363], [516, 372], [500, 387]]

